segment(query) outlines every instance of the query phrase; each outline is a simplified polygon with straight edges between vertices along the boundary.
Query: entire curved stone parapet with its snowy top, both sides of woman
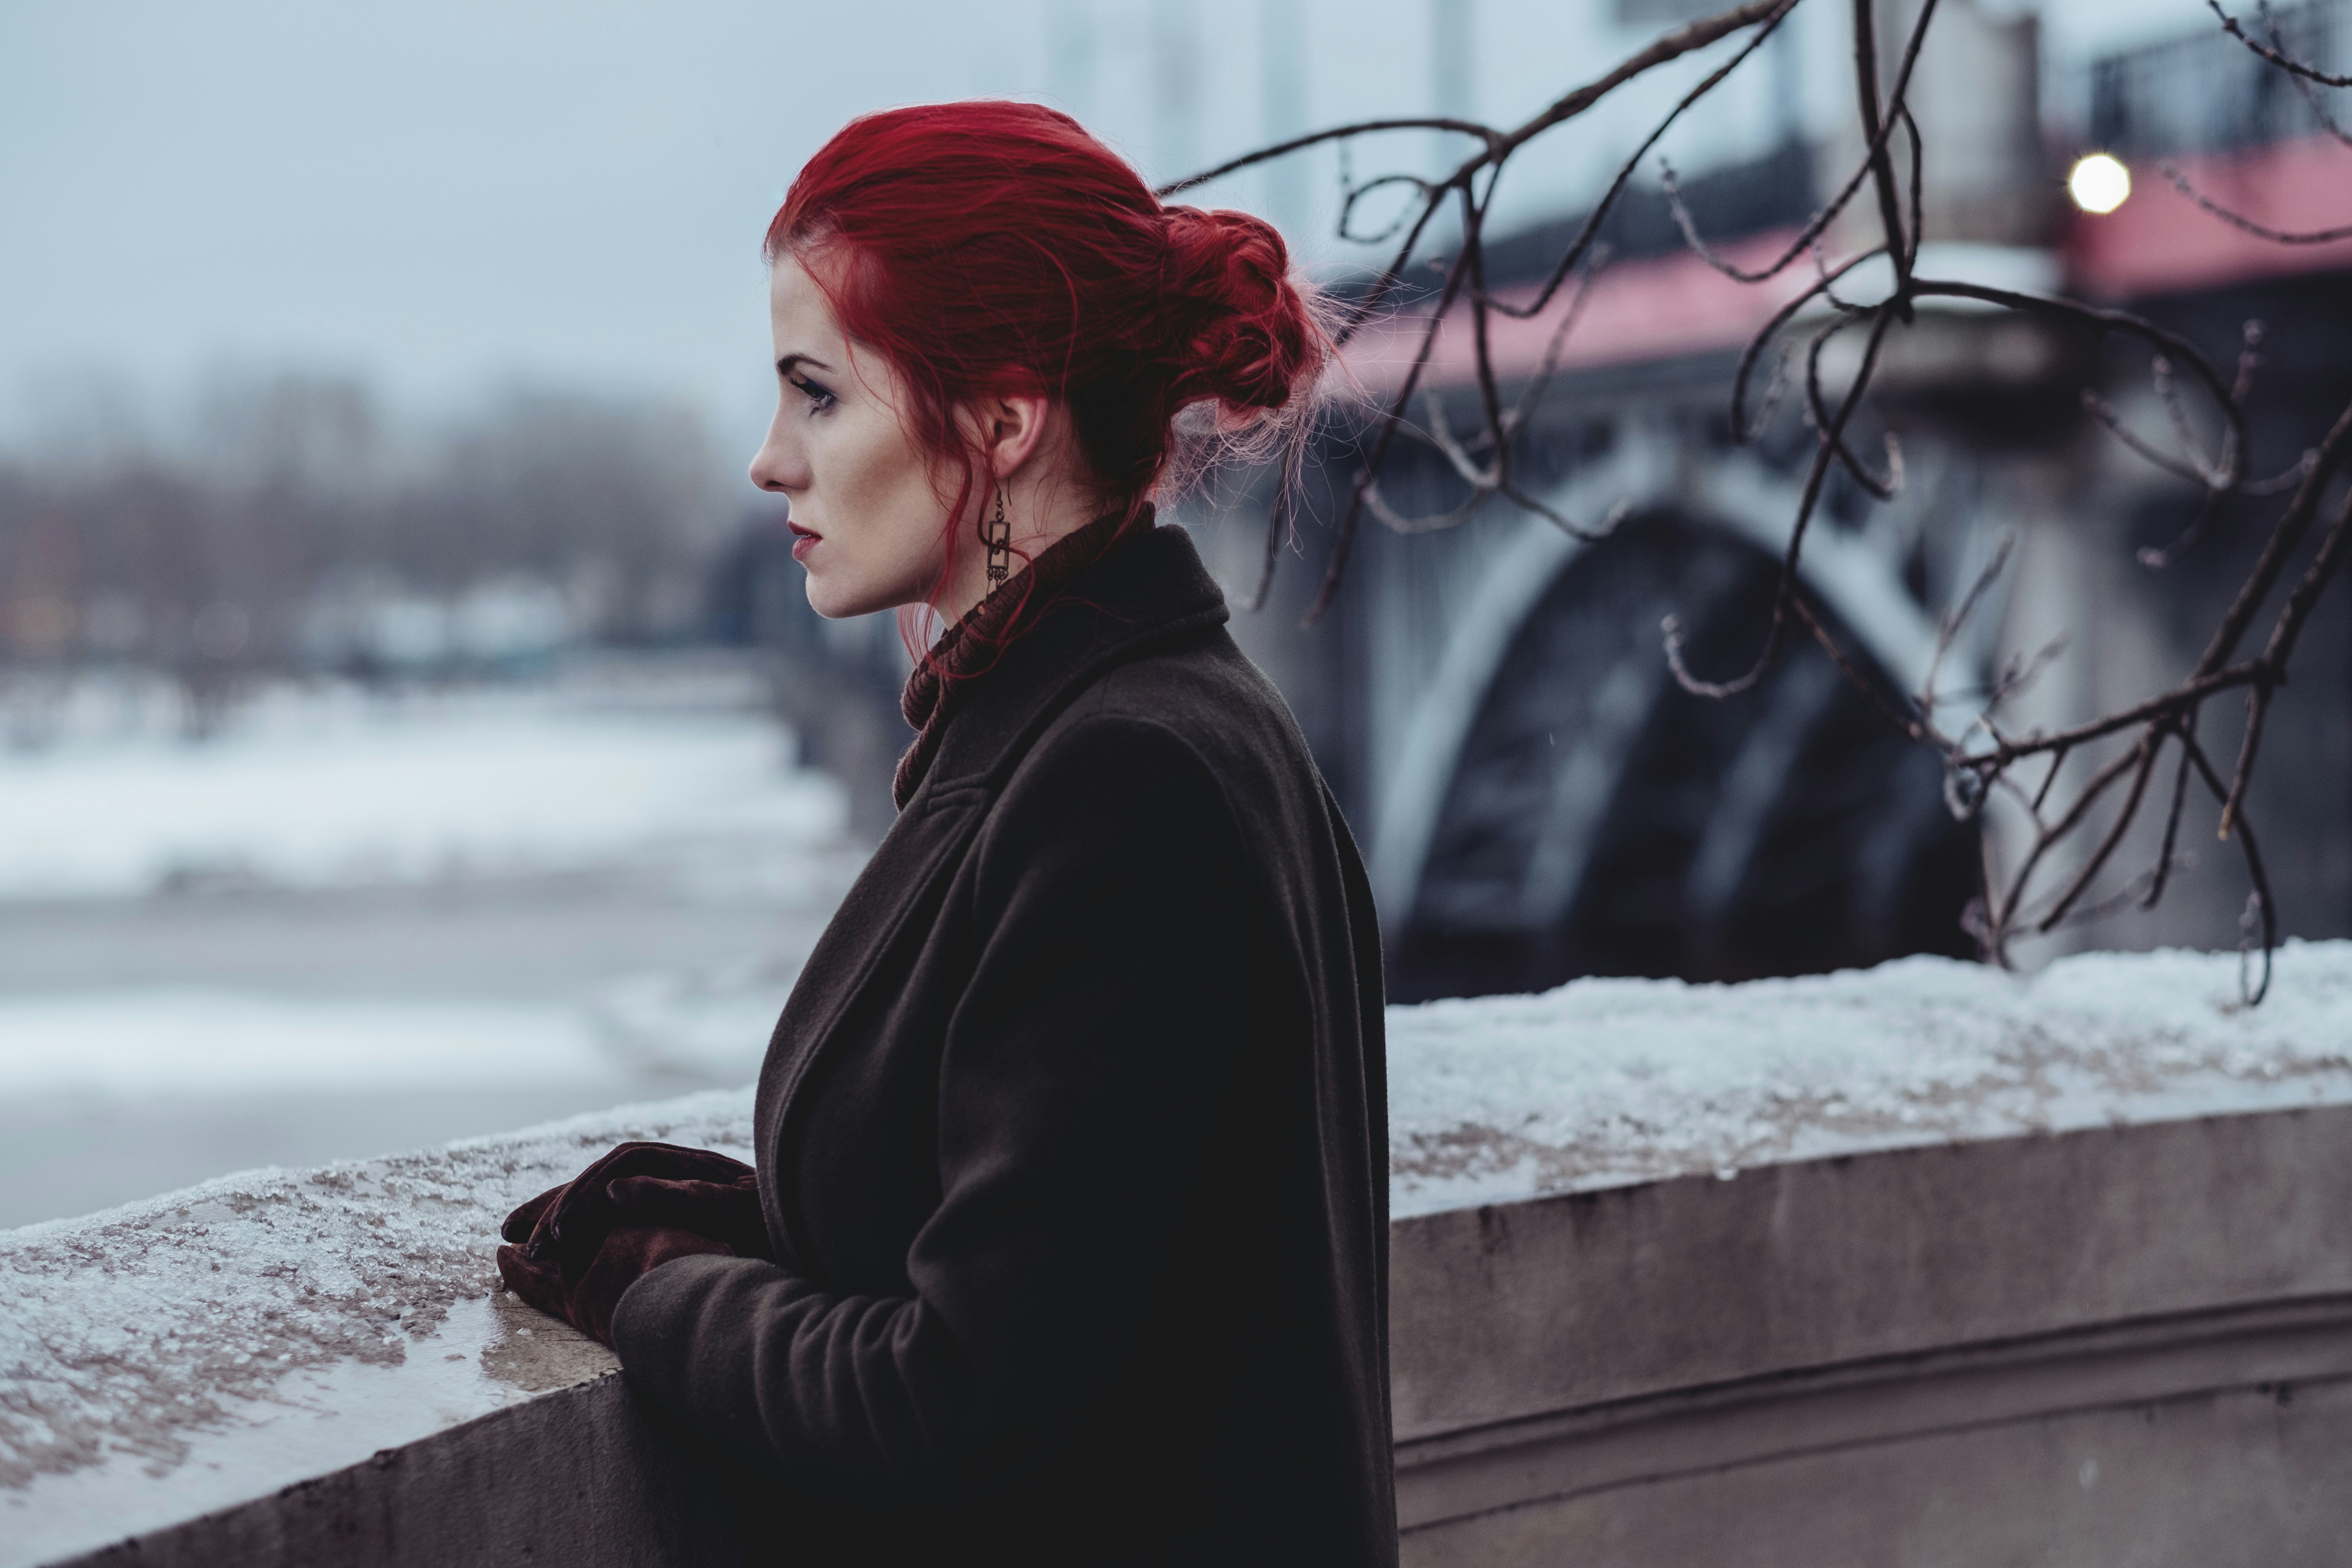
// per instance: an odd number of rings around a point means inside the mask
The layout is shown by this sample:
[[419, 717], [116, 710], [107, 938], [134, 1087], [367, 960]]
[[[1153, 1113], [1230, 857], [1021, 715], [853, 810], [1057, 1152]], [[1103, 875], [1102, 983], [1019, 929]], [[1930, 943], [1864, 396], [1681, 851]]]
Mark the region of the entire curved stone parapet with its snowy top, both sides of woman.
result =
[[[2343, 1561], [2352, 945], [2232, 980], [1395, 1009], [1406, 1561]], [[633, 1135], [748, 1154], [748, 1095], [0, 1234], [0, 1568], [743, 1561], [494, 1291], [503, 1208]]]

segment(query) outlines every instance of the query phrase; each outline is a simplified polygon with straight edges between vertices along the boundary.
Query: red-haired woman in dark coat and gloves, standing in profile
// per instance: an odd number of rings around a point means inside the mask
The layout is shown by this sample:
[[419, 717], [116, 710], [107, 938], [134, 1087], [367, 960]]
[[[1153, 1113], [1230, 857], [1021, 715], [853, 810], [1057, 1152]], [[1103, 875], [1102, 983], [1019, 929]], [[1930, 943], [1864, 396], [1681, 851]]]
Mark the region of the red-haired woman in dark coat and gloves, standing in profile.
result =
[[844, 127], [767, 235], [826, 616], [936, 614], [898, 820], [793, 990], [757, 1168], [623, 1145], [508, 1284], [788, 1563], [1392, 1563], [1381, 954], [1282, 698], [1152, 498], [1303, 418], [1282, 237], [1025, 103]]

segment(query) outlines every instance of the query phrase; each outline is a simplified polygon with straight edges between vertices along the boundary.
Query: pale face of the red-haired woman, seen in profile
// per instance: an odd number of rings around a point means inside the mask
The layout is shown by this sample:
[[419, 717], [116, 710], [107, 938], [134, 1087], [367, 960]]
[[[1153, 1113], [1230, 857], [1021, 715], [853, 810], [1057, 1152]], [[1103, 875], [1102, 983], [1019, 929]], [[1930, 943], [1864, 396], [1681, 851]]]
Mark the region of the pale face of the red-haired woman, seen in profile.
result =
[[750, 480], [793, 503], [793, 559], [818, 616], [922, 599], [946, 562], [946, 503], [898, 421], [898, 376], [856, 350], [790, 254], [769, 275], [776, 418]]

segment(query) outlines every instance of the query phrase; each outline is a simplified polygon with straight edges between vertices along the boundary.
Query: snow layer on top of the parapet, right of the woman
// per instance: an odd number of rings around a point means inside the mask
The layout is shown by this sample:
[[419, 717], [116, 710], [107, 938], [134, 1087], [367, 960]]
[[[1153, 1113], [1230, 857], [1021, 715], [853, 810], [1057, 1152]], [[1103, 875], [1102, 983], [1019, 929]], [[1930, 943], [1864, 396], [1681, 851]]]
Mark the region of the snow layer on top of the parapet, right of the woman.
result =
[[2352, 1103], [2352, 943], [1573, 980], [1388, 1011], [1395, 1218], [1929, 1143]]

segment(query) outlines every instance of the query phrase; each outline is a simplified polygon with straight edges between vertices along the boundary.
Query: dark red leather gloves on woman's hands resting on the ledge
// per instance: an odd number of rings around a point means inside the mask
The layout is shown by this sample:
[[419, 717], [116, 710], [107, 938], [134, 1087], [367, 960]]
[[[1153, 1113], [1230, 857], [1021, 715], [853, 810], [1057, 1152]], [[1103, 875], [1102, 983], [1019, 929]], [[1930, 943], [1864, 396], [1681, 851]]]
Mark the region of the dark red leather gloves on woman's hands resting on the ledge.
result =
[[506, 1215], [499, 1276], [541, 1312], [612, 1342], [647, 1269], [689, 1253], [771, 1258], [755, 1173], [670, 1143], [623, 1143]]

